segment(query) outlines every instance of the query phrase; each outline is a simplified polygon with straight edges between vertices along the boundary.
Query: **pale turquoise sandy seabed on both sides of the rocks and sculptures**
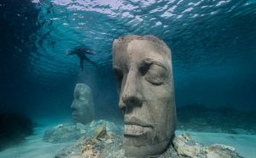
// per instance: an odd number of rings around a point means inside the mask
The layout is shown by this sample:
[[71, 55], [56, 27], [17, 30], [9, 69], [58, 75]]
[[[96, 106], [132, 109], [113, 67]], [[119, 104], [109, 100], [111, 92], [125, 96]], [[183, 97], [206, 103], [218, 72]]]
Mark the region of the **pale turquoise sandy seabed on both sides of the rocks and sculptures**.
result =
[[[22, 143], [0, 152], [0, 158], [53, 158], [56, 153], [69, 143], [46, 143], [43, 140], [45, 130], [54, 127], [61, 121], [48, 120], [38, 121], [44, 126], [36, 127], [34, 134], [27, 137]], [[186, 131], [177, 130], [179, 135]], [[198, 133], [186, 132], [191, 138], [201, 144], [226, 144], [236, 148], [236, 151], [243, 157], [253, 158], [256, 155], [256, 135], [229, 134], [229, 133]]]

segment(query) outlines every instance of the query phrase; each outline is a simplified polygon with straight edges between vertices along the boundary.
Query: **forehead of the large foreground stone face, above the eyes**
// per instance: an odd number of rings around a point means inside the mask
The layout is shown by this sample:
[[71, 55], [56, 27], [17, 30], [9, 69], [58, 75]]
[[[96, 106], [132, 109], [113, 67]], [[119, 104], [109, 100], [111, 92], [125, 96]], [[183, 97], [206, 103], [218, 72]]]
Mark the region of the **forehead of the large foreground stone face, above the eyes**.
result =
[[131, 62], [137, 64], [143, 59], [153, 59], [165, 65], [170, 65], [171, 53], [168, 48], [148, 40], [132, 40], [120, 44], [113, 50], [114, 65], [124, 65]]

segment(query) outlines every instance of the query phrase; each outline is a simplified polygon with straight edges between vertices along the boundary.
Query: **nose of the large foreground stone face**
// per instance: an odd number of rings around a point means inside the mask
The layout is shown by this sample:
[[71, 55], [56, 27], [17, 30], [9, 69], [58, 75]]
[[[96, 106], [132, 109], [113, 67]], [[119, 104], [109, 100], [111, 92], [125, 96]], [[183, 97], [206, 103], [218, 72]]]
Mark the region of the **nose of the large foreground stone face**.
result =
[[131, 109], [134, 106], [141, 106], [142, 103], [141, 82], [137, 78], [136, 73], [129, 72], [119, 99], [119, 108]]

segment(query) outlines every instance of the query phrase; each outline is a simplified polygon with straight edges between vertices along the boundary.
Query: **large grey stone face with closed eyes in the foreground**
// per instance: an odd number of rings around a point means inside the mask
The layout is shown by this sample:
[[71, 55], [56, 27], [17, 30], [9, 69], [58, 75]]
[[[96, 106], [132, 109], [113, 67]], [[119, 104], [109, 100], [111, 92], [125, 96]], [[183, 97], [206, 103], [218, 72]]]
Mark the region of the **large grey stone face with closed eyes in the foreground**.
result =
[[125, 155], [161, 154], [176, 128], [171, 50], [154, 36], [119, 37], [113, 71], [124, 112]]

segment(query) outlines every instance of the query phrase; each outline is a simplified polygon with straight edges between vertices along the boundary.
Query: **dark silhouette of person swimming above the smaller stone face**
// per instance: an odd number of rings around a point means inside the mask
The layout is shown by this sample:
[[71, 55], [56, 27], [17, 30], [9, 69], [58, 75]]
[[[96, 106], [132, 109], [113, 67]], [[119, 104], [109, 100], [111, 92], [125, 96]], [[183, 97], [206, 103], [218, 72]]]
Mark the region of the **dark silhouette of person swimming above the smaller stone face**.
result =
[[83, 67], [84, 60], [89, 62], [91, 65], [95, 65], [96, 68], [98, 68], [98, 65], [96, 65], [96, 63], [91, 61], [86, 56], [86, 54], [96, 54], [94, 51], [90, 50], [89, 48], [86, 48], [85, 46], [78, 46], [76, 48], [73, 48], [73, 50], [70, 51], [70, 53], [67, 53], [67, 55], [73, 55], [73, 54], [78, 55], [78, 57], [80, 59], [80, 67], [81, 67], [82, 71], [84, 70], [84, 67]]

